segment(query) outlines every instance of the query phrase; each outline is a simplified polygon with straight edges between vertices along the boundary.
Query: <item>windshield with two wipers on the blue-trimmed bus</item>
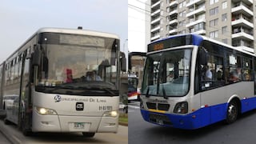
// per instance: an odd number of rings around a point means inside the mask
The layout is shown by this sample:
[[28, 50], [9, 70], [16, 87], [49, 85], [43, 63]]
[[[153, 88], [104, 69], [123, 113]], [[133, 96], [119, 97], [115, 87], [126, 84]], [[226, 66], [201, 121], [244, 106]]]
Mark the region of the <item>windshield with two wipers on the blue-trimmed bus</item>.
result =
[[189, 90], [191, 51], [170, 50], [147, 55], [142, 94], [184, 96]]

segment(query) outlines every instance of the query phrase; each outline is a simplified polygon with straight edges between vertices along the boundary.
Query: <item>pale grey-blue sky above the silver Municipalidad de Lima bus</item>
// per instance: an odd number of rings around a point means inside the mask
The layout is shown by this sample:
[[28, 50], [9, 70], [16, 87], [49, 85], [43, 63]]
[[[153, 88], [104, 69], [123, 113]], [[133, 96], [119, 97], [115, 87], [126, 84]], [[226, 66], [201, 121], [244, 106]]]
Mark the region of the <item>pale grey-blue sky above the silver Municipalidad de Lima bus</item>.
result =
[[[128, 0], [2, 0], [0, 63], [42, 27], [97, 30], [118, 34], [128, 51]], [[123, 47], [125, 46], [125, 47]]]

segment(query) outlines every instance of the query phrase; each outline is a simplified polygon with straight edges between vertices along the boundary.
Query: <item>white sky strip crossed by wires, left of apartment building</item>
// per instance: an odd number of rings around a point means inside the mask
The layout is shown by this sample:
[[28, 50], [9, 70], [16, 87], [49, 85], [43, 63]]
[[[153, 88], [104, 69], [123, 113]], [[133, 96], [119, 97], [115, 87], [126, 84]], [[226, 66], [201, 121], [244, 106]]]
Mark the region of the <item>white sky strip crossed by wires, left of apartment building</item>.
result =
[[[128, 1], [128, 50], [129, 52], [146, 52], [146, 0]], [[147, 15], [146, 15], [147, 14]]]

